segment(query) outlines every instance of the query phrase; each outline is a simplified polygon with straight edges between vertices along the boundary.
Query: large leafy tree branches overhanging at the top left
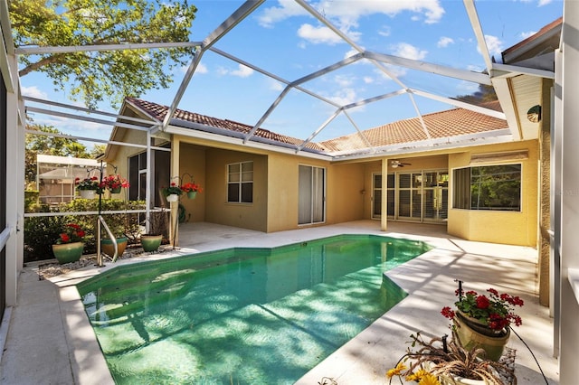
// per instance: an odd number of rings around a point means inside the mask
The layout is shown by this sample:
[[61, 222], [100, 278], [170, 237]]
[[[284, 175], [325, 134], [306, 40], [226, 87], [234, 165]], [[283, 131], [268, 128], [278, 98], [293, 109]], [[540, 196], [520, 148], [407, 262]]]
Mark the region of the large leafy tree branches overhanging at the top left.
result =
[[[18, 47], [188, 42], [197, 11], [186, 0], [12, 0], [9, 7]], [[21, 55], [19, 75], [42, 71], [89, 108], [105, 98], [117, 108], [125, 96], [167, 88], [172, 70], [192, 53], [183, 47]]]

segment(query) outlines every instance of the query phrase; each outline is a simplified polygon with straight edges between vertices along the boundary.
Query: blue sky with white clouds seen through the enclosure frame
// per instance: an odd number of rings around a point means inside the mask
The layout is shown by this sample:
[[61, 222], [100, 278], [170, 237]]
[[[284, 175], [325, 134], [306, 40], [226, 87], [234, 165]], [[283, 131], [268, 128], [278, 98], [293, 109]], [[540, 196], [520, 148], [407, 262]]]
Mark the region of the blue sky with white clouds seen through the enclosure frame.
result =
[[[484, 70], [484, 61], [462, 1], [437, 0], [327, 0], [308, 2], [334, 23], [348, 38], [366, 51], [441, 64], [463, 70]], [[223, 22], [242, 1], [193, 1], [198, 8], [190, 40], [202, 41]], [[527, 38], [563, 13], [563, 2], [555, 0], [477, 1], [483, 33], [490, 54], [500, 61], [500, 52]], [[309, 15], [292, 0], [266, 1], [216, 42], [215, 48], [233, 54], [285, 80], [298, 80], [309, 73], [351, 56], [354, 51], [346, 42]], [[451, 80], [422, 71], [387, 66], [387, 70], [407, 87], [437, 95], [454, 97], [470, 94], [477, 84]], [[170, 89], [151, 90], [147, 99], [170, 105], [185, 70], [176, 70]], [[42, 74], [21, 79], [24, 95], [72, 102], [65, 91], [55, 91], [52, 80]], [[305, 83], [309, 89], [340, 105], [373, 98], [401, 86], [384, 76], [368, 61], [358, 61], [322, 78]], [[205, 52], [195, 75], [185, 91], [179, 108], [212, 117], [236, 120], [254, 125], [284, 85], [223, 58]], [[416, 96], [422, 114], [452, 108]], [[103, 103], [100, 109], [118, 112]], [[321, 127], [336, 108], [303, 92], [292, 90], [274, 109], [262, 128], [306, 138]], [[416, 117], [408, 96], [385, 99], [350, 110], [359, 129], [380, 126], [392, 121]], [[100, 139], [109, 137], [110, 128], [62, 117], [34, 115], [38, 123], [51, 124], [61, 131]], [[325, 127], [314, 141], [326, 140], [356, 132], [343, 115]]]

